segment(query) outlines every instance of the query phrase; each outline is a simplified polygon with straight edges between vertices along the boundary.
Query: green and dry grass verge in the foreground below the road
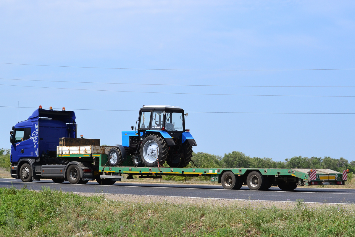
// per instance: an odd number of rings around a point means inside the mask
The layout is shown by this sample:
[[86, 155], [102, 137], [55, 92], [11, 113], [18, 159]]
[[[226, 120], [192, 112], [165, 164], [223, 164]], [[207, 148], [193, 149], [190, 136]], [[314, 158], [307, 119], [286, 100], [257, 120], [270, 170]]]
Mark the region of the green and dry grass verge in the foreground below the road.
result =
[[[144, 196], [142, 196], [144, 199]], [[43, 188], [0, 189], [0, 236], [354, 236], [353, 205], [116, 201]], [[79, 234], [80, 233], [80, 234]]]

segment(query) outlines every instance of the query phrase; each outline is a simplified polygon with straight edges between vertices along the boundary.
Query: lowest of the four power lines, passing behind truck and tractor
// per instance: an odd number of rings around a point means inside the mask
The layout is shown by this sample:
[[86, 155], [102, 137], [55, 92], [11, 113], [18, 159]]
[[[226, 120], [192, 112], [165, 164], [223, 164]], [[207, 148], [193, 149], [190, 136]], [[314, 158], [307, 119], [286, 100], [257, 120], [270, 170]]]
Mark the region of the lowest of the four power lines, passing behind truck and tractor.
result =
[[[2, 108], [26, 108], [38, 109], [38, 107], [17, 107], [17, 106], [0, 106]], [[61, 108], [54, 108], [59, 109]], [[86, 111], [125, 111], [125, 112], [139, 112], [138, 110], [122, 110], [122, 109], [73, 109], [67, 110], [86, 110]], [[355, 113], [274, 113], [274, 112], [209, 112], [209, 111], [185, 111], [187, 113], [219, 113], [219, 114], [355, 114]]]

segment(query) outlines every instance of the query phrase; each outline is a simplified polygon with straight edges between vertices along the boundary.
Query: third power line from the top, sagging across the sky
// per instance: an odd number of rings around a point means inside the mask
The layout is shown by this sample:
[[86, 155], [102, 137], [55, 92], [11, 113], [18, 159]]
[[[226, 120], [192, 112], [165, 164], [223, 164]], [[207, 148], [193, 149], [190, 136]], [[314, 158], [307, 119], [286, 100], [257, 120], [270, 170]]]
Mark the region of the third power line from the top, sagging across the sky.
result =
[[182, 92], [151, 92], [151, 91], [115, 91], [115, 90], [98, 90], [98, 89], [82, 89], [82, 88], [62, 88], [62, 87], [45, 87], [45, 86], [23, 86], [23, 85], [6, 85], [0, 86], [19, 86], [31, 88], [61, 89], [61, 90], [79, 90], [79, 91], [105, 91], [105, 92], [127, 92], [127, 93], [149, 93], [149, 94], [174, 94], [174, 95], [208, 95], [208, 96], [272, 96], [272, 97], [355, 97], [355, 96], [307, 96], [307, 95], [243, 95], [243, 94], [209, 94], [209, 93], [182, 93]]

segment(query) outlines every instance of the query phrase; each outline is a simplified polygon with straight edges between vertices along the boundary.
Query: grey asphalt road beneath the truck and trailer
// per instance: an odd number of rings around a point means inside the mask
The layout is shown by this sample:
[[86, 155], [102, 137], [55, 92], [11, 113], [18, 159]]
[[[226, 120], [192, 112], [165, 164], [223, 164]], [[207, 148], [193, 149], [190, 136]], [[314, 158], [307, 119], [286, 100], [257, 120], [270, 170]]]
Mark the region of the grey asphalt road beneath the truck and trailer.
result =
[[[12, 184], [11, 184], [12, 183]], [[1, 179], [0, 187], [23, 188], [25, 183], [20, 179]], [[305, 202], [317, 203], [355, 203], [355, 189], [330, 189], [330, 188], [296, 188], [293, 191], [282, 191], [272, 187], [267, 191], [251, 191], [247, 187], [240, 190], [225, 190], [222, 185], [191, 185], [191, 184], [141, 184], [120, 183], [114, 185], [99, 185], [96, 182], [87, 184], [70, 184], [64, 182], [56, 184], [51, 180], [43, 179], [27, 183], [28, 189], [40, 190], [42, 186], [51, 189], [62, 189], [66, 192], [82, 193], [110, 193], [110, 194], [135, 194], [159, 196], [184, 196], [198, 198], [226, 198], [250, 199], [265, 201], [296, 201], [304, 199]]]

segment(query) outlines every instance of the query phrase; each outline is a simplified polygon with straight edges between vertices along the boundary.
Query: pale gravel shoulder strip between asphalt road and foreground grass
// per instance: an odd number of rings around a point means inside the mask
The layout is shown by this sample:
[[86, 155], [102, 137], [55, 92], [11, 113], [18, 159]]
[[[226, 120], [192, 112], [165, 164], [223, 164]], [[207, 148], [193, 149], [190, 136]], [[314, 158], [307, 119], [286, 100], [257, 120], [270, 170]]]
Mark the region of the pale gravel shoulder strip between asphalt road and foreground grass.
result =
[[[193, 205], [212, 205], [212, 206], [250, 206], [250, 207], [272, 207], [280, 209], [292, 209], [295, 202], [292, 201], [259, 201], [259, 200], [238, 200], [238, 199], [219, 199], [219, 198], [191, 198], [174, 196], [153, 196], [153, 195], [130, 195], [130, 194], [98, 194], [98, 193], [76, 193], [82, 196], [104, 195], [106, 199], [114, 201], [128, 201], [139, 203], [173, 203], [173, 204], [193, 204]], [[340, 205], [346, 208], [355, 208], [355, 204], [329, 204], [329, 203], [307, 203], [308, 207], [325, 207]]]

